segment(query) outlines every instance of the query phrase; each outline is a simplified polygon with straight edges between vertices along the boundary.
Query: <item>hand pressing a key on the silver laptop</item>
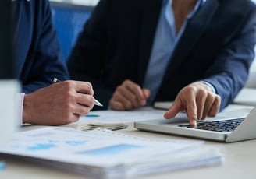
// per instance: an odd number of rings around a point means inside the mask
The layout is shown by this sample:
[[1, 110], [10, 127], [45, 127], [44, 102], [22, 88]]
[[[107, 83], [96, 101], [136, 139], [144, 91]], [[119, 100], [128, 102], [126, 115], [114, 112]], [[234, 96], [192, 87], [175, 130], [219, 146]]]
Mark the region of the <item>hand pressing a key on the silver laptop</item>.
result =
[[214, 117], [219, 112], [220, 102], [219, 95], [213, 93], [210, 86], [194, 82], [180, 90], [164, 117], [174, 118], [180, 111], [186, 111], [190, 125], [197, 126], [198, 120]]

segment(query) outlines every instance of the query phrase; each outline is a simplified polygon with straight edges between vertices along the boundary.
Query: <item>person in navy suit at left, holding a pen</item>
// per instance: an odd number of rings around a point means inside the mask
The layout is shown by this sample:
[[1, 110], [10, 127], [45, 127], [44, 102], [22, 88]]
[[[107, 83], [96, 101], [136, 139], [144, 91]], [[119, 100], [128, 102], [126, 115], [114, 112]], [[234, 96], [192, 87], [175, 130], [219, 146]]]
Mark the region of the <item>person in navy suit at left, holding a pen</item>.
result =
[[[15, 77], [22, 84], [20, 123], [65, 125], [94, 105], [90, 82], [69, 79], [48, 0], [12, 3]], [[52, 79], [67, 80], [52, 84]], [[81, 92], [81, 93], [79, 93]], [[84, 93], [84, 94], [82, 94]]]

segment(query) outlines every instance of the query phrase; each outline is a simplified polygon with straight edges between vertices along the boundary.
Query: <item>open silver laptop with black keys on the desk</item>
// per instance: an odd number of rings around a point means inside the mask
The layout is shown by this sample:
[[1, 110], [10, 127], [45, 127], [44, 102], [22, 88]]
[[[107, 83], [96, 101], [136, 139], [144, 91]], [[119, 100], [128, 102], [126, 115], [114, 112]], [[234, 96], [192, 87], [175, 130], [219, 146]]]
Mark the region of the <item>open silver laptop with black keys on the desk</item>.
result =
[[196, 128], [188, 123], [186, 113], [179, 113], [172, 119], [153, 119], [134, 122], [134, 127], [148, 132], [181, 135], [217, 142], [238, 142], [256, 139], [256, 107], [249, 114], [227, 111], [215, 118], [198, 121]]

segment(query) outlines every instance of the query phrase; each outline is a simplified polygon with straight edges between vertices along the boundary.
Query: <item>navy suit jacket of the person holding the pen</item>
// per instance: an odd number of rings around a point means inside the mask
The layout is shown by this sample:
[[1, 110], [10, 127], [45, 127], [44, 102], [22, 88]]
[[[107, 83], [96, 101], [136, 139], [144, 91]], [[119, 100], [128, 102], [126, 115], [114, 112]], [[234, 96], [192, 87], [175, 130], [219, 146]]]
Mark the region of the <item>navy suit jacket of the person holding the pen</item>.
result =
[[22, 93], [48, 86], [54, 77], [69, 79], [48, 0], [16, 0], [12, 18], [15, 76]]

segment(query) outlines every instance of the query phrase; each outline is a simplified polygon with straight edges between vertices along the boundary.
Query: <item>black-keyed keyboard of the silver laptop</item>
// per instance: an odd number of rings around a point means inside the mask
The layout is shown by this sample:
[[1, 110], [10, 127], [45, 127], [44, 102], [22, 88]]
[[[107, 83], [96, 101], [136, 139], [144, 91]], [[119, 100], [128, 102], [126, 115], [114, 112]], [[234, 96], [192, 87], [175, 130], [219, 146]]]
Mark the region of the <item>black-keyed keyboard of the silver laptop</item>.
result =
[[225, 121], [205, 121], [198, 122], [197, 127], [190, 125], [179, 125], [179, 127], [185, 128], [197, 128], [215, 132], [232, 132], [235, 128], [240, 125], [244, 118], [225, 120]]

